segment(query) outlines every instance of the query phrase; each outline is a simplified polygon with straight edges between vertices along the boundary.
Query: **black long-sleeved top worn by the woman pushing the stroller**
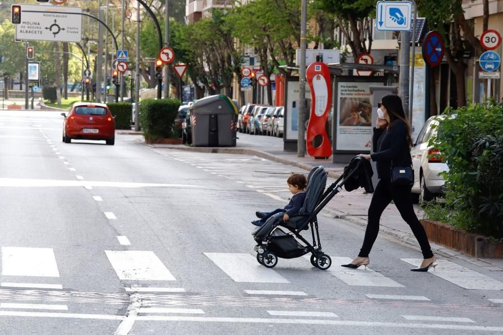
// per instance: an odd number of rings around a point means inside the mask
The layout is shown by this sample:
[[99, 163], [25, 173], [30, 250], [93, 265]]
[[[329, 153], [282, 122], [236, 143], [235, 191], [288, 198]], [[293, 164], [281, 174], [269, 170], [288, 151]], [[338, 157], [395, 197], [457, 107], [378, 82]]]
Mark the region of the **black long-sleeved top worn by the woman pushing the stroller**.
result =
[[399, 119], [389, 128], [374, 128], [373, 151], [370, 155], [377, 165], [377, 176], [390, 180], [391, 161], [394, 167], [410, 166], [410, 148], [407, 142], [407, 126]]

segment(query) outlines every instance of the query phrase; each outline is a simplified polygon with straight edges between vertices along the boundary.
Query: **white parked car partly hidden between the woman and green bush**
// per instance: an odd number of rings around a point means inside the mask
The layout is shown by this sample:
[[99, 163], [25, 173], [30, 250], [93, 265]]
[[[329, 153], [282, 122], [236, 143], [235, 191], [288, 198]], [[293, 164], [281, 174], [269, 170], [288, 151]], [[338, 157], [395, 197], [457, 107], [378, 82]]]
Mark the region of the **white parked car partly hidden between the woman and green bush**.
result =
[[441, 157], [432, 157], [438, 150], [428, 144], [428, 141], [437, 135], [433, 125], [439, 125], [446, 116], [434, 116], [426, 121], [417, 136], [414, 147], [410, 150], [412, 165], [414, 167], [414, 185], [412, 197], [415, 202], [433, 200], [444, 193], [444, 178], [439, 173], [448, 171], [449, 167], [442, 162]]

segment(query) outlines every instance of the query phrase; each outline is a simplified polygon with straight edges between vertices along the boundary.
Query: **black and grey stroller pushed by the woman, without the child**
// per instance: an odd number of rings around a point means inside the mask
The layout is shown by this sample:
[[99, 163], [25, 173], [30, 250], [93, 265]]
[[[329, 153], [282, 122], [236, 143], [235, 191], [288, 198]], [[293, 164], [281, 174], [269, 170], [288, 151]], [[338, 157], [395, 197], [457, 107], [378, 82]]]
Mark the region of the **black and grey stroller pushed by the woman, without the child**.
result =
[[[321, 250], [316, 215], [328, 201], [340, 192], [341, 187], [348, 180], [351, 180], [352, 176], [354, 180], [355, 173], [362, 174], [357, 171], [363, 169], [366, 160], [354, 158], [352, 163], [353, 161], [355, 161], [354, 164], [347, 166], [345, 173], [326, 190], [327, 174], [324, 168], [322, 166], [313, 168], [307, 177], [306, 199], [299, 213], [290, 217], [288, 221], [283, 221], [283, 213], [275, 214], [263, 226], [254, 230], [252, 234], [257, 242], [254, 250], [257, 252], [257, 261], [260, 264], [267, 268], [273, 268], [278, 264], [278, 257], [297, 258], [310, 252], [310, 261], [314, 267], [321, 270], [330, 267], [332, 264], [330, 257]], [[365, 178], [368, 179], [368, 175]], [[348, 189], [348, 187], [346, 188]], [[325, 191], [323, 192], [323, 190]], [[309, 228], [311, 228], [313, 239], [312, 245], [300, 235], [301, 231]]]

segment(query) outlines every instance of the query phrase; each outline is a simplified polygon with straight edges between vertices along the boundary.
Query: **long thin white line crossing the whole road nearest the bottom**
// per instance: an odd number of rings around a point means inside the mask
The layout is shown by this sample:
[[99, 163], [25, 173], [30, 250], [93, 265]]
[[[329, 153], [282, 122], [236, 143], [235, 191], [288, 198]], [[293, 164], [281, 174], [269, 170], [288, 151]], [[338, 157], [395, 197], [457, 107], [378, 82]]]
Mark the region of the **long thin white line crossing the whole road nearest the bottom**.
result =
[[[97, 320], [124, 320], [126, 317], [111, 314], [79, 314], [58, 312], [25, 312], [0, 310], [0, 316], [20, 317], [52, 317], [52, 318], [77, 318]], [[378, 322], [378, 321], [354, 321], [354, 320], [323, 320], [323, 319], [281, 319], [281, 318], [252, 318], [252, 317], [207, 317], [207, 316], [168, 316], [148, 315], [136, 316], [136, 321], [172, 321], [172, 322], [221, 322], [221, 323], [276, 323], [276, 324], [318, 324], [339, 325], [350, 327], [384, 327], [384, 328], [415, 328], [415, 329], [448, 329], [448, 330], [473, 330], [502, 332], [501, 326], [477, 326], [461, 324], [434, 324], [434, 323], [401, 323], [401, 322]]]

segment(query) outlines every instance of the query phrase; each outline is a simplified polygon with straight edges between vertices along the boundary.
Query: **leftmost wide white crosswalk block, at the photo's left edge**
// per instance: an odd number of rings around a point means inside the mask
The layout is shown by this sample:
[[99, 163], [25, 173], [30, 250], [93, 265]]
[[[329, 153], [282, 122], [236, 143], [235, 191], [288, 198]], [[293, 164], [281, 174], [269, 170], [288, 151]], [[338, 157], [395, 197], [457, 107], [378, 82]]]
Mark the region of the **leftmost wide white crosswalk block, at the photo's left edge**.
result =
[[52, 248], [2, 247], [2, 275], [59, 277]]

